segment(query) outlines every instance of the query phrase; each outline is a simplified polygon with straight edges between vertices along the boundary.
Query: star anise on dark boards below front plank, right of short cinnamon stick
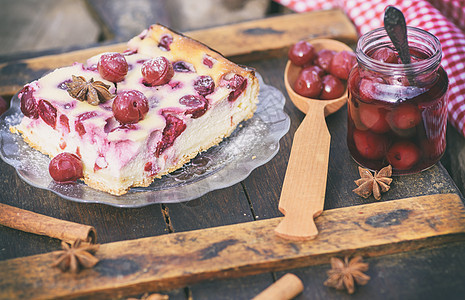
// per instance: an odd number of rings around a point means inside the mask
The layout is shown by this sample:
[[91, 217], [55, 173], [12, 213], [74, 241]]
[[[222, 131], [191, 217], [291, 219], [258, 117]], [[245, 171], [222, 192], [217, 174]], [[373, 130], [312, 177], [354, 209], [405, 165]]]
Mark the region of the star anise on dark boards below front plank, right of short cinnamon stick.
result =
[[368, 271], [368, 264], [362, 261], [361, 256], [355, 256], [349, 260], [344, 257], [344, 261], [337, 257], [331, 257], [331, 270], [327, 272], [329, 278], [324, 285], [338, 290], [347, 289], [349, 294], [355, 292], [355, 283], [359, 285], [367, 284], [370, 276], [362, 273]]

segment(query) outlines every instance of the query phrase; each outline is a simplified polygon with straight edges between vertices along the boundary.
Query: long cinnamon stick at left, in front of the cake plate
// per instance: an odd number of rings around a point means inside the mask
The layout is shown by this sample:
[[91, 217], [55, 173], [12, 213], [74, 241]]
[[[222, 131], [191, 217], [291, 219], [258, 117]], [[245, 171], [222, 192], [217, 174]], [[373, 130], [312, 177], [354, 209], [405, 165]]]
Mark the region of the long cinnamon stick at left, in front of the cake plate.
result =
[[77, 239], [96, 243], [97, 232], [89, 225], [60, 220], [0, 203], [0, 224], [65, 242]]

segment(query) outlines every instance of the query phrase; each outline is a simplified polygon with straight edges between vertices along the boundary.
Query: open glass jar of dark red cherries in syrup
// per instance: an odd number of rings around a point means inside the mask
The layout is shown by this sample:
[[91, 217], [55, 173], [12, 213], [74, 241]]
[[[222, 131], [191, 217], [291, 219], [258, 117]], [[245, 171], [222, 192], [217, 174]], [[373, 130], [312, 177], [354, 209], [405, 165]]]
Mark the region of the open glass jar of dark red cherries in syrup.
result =
[[446, 147], [448, 78], [439, 40], [407, 27], [410, 64], [403, 64], [384, 28], [363, 35], [348, 80], [347, 145], [371, 170], [396, 175], [434, 165]]

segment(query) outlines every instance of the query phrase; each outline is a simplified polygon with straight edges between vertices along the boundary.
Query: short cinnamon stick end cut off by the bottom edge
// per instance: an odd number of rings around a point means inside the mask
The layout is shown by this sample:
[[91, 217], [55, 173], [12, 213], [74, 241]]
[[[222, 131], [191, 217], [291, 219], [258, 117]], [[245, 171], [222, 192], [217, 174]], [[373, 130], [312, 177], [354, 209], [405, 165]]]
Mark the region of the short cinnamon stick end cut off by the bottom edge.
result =
[[264, 289], [252, 300], [285, 300], [292, 299], [304, 290], [299, 277], [287, 273], [275, 283]]

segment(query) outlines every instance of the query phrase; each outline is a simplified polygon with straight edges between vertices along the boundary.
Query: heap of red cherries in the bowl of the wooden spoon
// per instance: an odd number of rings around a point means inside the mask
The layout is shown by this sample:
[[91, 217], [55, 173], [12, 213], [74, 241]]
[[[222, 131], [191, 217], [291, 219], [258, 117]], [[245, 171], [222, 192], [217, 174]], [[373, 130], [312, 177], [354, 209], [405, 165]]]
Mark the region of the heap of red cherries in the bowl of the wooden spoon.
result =
[[294, 91], [301, 96], [321, 100], [336, 99], [344, 94], [345, 81], [357, 62], [351, 51], [316, 51], [307, 41], [292, 45], [288, 58], [302, 68], [293, 83]]

